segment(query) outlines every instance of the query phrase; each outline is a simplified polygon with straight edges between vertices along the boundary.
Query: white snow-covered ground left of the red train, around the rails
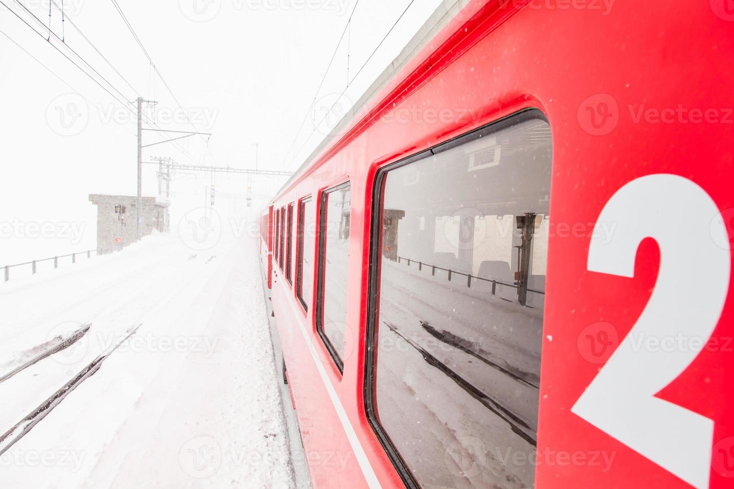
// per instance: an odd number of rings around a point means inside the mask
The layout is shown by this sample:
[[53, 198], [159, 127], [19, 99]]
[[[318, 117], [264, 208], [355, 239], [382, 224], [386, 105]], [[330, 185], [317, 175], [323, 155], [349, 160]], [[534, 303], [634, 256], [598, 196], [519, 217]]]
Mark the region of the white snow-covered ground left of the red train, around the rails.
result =
[[0, 382], [0, 437], [139, 326], [0, 455], [0, 487], [302, 485], [247, 234], [197, 251], [174, 229], [0, 284], [0, 378], [90, 325]]

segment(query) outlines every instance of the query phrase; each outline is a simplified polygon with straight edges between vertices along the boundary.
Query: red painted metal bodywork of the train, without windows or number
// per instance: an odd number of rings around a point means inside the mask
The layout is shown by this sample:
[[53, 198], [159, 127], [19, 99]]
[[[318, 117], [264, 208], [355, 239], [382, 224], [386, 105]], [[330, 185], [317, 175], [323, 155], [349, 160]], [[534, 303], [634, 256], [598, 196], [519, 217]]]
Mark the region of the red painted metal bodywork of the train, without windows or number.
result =
[[[661, 286], [656, 283], [661, 262], [668, 260], [660, 243], [647, 239], [636, 251], [632, 277], [589, 271], [592, 231], [617, 191], [647, 175], [684, 177], [722, 212], [730, 238], [725, 246], [734, 235], [734, 11], [727, 5], [726, 0], [474, 2], [275, 197], [275, 206], [281, 207], [313, 196], [318, 213], [321, 191], [344, 180], [352, 185], [346, 315], [346, 349], [351, 354], [344, 358], [344, 375], [316, 334], [315, 308], [305, 312], [294, 287], [280, 272], [269, 273], [315, 487], [368, 483], [330, 389], [379, 484], [402, 487], [363, 406], [371, 195], [377, 169], [527, 108], [543, 111], [553, 133], [551, 229], [556, 230], [548, 251], [537, 487], [691, 487], [571, 409], [639, 320], [653, 290]], [[429, 120], [429, 113], [442, 111], [449, 115]], [[390, 114], [410, 115], [406, 121], [385, 117]], [[666, 217], [646, 208], [637, 211], [637, 218], [650, 222]], [[700, 218], [716, 221], [716, 216]], [[270, 229], [272, 207], [269, 222]], [[678, 238], [686, 240], [694, 228], [680, 222]], [[316, 262], [316, 256], [310, 259]], [[695, 254], [676, 258], [701, 259]], [[295, 267], [296, 260], [292, 262]], [[716, 489], [734, 485], [734, 347], [724, 348], [727, 338], [734, 337], [734, 295], [727, 291], [725, 297], [710, 340], [719, 348], [697, 354], [655, 393], [713, 420], [708, 486]], [[671, 301], [669, 307], [697, 307], [685, 302]], [[602, 339], [602, 330], [608, 341], [587, 350], [584, 339]], [[669, 430], [679, 428], [672, 425]], [[597, 452], [613, 457], [612, 463], [592, 463]], [[337, 455], [346, 460], [344, 466], [331, 457]]]

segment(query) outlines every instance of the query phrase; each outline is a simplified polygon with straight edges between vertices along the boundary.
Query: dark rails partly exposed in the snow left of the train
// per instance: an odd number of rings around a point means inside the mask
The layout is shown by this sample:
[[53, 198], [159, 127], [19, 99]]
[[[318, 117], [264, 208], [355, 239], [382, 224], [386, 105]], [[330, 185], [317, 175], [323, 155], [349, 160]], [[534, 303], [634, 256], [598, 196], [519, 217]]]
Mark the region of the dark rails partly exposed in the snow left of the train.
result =
[[[12, 372], [4, 375], [2, 380], [7, 380], [8, 378], [12, 377], [12, 375], [21, 372], [23, 369], [31, 367], [38, 361], [41, 361], [54, 353], [58, 353], [59, 351], [68, 348], [70, 345], [73, 345], [74, 342], [78, 341], [82, 336], [84, 336], [84, 334], [87, 333], [87, 331], [89, 331], [90, 326], [91, 325], [87, 325], [84, 328], [80, 328], [79, 331], [76, 331], [71, 337], [65, 340], [65, 342], [62, 342], [62, 344], [59, 344], [51, 350], [48, 350], [46, 353], [43, 353], [21, 365], [20, 367], [12, 370]], [[48, 397], [48, 399], [41, 402], [40, 405], [34, 408], [26, 416], [24, 416], [23, 419], [15, 423], [12, 427], [10, 427], [9, 430], [0, 435], [0, 455], [3, 455], [5, 452], [7, 452], [8, 449], [10, 449], [11, 446], [17, 443], [21, 438], [23, 438], [23, 436], [27, 435], [29, 431], [32, 430], [33, 427], [41, 422], [41, 420], [43, 420], [46, 416], [48, 416], [48, 414], [51, 413], [51, 411], [53, 411], [54, 408], [56, 408], [62, 402], [62, 400], [64, 400], [65, 397], [70, 394], [71, 391], [76, 389], [82, 382], [84, 382], [84, 380], [87, 380], [92, 375], [94, 375], [95, 372], [97, 372], [98, 369], [100, 369], [100, 367], [102, 366], [102, 362], [108, 359], [109, 356], [112, 355], [112, 353], [115, 353], [115, 351], [120, 348], [120, 346], [123, 345], [124, 342], [126, 342], [133, 334], [135, 334], [140, 326], [141, 325], [138, 325], [134, 328], [128, 329], [128, 331], [126, 331], [126, 334], [119, 341], [117, 341], [115, 345], [112, 345], [111, 347], [100, 353], [94, 360], [90, 361], [89, 364], [81, 369], [79, 373], [71, 378], [71, 380], [61, 386], [61, 388], [54, 392], [54, 394], [51, 394], [51, 397]]]

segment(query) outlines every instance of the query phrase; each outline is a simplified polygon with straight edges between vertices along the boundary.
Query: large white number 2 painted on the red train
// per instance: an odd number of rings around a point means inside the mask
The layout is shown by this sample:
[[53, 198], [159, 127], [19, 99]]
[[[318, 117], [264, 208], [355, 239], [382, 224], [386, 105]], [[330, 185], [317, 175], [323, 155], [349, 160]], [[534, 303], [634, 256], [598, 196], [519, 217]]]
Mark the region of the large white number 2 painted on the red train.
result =
[[589, 271], [632, 277], [636, 251], [648, 237], [660, 247], [660, 269], [639, 320], [571, 408], [696, 488], [708, 488], [713, 420], [654, 396], [700, 349], [639, 348], [631, 338], [683, 337], [705, 344], [711, 337], [731, 266], [730, 250], [717, 244], [729, 243], [727, 228], [720, 218], [712, 224], [715, 216], [719, 208], [699, 185], [672, 174], [638, 178], [609, 199], [597, 227], [617, 228], [608, 242], [592, 238]]

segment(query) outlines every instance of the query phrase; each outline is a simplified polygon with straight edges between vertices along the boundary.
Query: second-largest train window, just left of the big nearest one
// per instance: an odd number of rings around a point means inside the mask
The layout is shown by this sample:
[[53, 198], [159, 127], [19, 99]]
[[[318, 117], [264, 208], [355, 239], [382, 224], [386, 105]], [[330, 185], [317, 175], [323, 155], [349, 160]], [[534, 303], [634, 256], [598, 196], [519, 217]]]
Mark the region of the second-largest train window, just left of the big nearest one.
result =
[[349, 265], [349, 182], [321, 194], [319, 219], [319, 289], [316, 330], [340, 371], [346, 346], [346, 271]]

